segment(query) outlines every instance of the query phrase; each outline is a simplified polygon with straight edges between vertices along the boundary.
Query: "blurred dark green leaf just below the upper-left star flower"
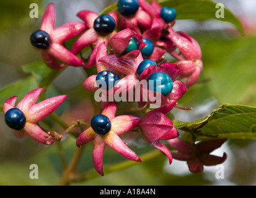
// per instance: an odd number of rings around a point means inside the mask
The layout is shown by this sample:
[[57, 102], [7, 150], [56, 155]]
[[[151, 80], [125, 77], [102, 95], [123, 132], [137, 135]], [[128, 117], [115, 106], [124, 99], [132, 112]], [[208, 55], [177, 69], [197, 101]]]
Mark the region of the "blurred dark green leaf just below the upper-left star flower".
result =
[[22, 66], [25, 73], [32, 74], [38, 83], [38, 87], [47, 88], [61, 71], [56, 71], [47, 67], [43, 61], [32, 62]]

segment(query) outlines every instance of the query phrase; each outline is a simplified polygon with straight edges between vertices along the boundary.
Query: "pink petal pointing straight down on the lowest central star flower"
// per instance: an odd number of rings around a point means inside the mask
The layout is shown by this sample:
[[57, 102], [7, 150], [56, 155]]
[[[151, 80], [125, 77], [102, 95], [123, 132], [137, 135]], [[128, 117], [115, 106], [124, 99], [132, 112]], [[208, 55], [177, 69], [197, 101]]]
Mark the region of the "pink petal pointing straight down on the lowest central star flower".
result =
[[95, 170], [102, 176], [103, 173], [103, 154], [105, 150], [105, 142], [100, 136], [96, 136], [94, 140], [94, 149], [92, 150], [92, 159], [94, 161]]

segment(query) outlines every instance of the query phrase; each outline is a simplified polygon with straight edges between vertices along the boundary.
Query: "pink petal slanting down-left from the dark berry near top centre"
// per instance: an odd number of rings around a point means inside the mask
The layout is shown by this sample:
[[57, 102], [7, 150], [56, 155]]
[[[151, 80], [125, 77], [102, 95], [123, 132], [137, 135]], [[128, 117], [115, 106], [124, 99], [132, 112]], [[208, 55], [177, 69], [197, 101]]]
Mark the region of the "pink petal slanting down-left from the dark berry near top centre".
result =
[[73, 48], [71, 49], [71, 52], [73, 54], [78, 54], [82, 49], [84, 49], [86, 46], [92, 45], [92, 43], [95, 43], [97, 41], [98, 34], [95, 32], [94, 28], [90, 28], [86, 32], [84, 32], [81, 37], [79, 37], [76, 40], [76, 43], [74, 43]]

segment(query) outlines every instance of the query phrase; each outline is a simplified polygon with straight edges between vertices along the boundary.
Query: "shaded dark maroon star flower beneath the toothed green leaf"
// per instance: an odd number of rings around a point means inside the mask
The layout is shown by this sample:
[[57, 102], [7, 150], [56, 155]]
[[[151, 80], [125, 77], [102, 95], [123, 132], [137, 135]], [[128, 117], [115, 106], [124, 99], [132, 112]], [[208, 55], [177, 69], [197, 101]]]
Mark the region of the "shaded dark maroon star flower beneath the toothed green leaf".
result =
[[201, 173], [203, 166], [214, 166], [223, 163], [227, 158], [226, 153], [223, 153], [223, 157], [210, 155], [210, 153], [221, 147], [225, 141], [226, 139], [217, 139], [192, 144], [179, 138], [167, 140], [170, 146], [178, 151], [178, 153], [172, 153], [172, 157], [187, 161], [188, 169], [192, 173]]

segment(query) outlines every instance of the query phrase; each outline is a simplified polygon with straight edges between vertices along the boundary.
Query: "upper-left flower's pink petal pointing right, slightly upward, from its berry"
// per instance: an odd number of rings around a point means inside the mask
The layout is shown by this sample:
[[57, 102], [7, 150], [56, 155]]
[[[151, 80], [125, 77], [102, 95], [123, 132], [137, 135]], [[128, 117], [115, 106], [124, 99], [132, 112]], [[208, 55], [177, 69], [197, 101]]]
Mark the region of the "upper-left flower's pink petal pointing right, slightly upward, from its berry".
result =
[[69, 22], [61, 27], [55, 28], [51, 33], [53, 43], [63, 44], [70, 38], [76, 37], [86, 29], [86, 24], [82, 22]]

